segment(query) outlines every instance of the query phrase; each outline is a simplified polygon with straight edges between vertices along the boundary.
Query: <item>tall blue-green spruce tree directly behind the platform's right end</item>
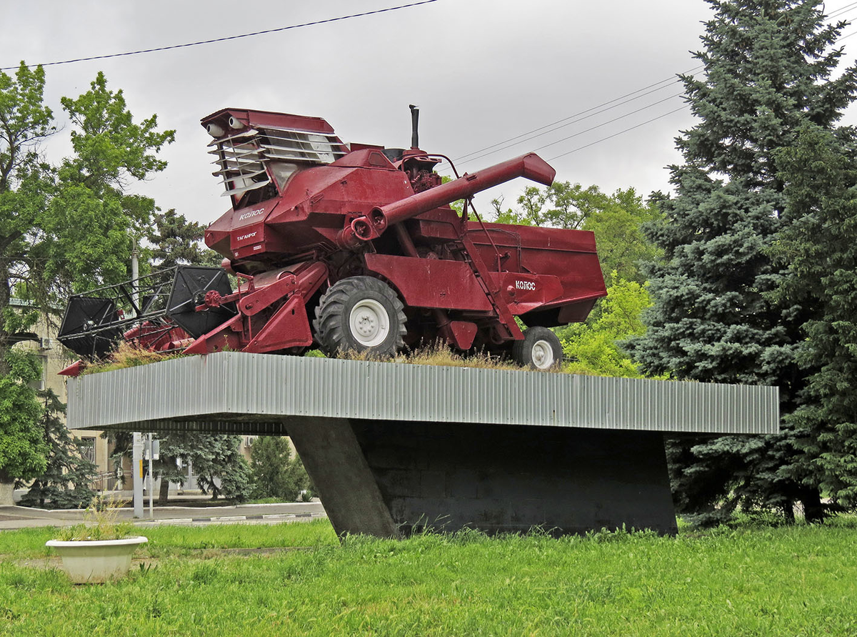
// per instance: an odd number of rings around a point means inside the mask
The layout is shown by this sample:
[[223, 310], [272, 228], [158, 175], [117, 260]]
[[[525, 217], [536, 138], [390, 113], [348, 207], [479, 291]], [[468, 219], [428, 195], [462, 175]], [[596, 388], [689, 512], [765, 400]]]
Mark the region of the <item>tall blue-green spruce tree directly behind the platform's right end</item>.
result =
[[[649, 235], [665, 255], [651, 264], [654, 306], [648, 330], [630, 344], [647, 373], [676, 379], [778, 385], [782, 410], [794, 410], [806, 373], [795, 355], [812, 307], [770, 296], [782, 276], [770, 245], [794, 220], [777, 175], [776, 154], [801, 125], [835, 130], [854, 99], [857, 70], [836, 76], [845, 23], [824, 21], [818, 0], [708, 0], [704, 64], [681, 76], [699, 123], [677, 139], [684, 163], [670, 167], [675, 196]], [[739, 504], [794, 501], [822, 515], [794, 431], [681, 440], [670, 446], [676, 502], [683, 513], [722, 519]]]

